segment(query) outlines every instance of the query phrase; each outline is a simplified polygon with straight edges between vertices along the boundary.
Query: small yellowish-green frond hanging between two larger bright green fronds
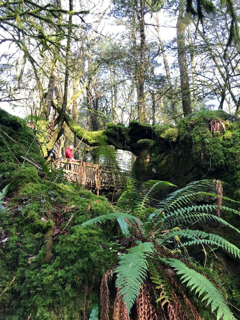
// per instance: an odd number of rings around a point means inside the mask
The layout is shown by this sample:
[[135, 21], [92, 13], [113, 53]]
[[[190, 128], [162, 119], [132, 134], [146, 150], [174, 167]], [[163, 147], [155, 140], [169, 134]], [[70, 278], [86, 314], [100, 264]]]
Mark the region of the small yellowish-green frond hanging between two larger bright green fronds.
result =
[[152, 259], [149, 259], [148, 261], [148, 268], [151, 274], [151, 280], [154, 284], [156, 284], [156, 289], [161, 290], [161, 294], [159, 298], [156, 300], [161, 302], [161, 307], [164, 306], [166, 302], [169, 302], [169, 300], [172, 300], [173, 295], [173, 288], [171, 284], [169, 283], [168, 278], [164, 276], [163, 271], [159, 271], [156, 265], [156, 262]]

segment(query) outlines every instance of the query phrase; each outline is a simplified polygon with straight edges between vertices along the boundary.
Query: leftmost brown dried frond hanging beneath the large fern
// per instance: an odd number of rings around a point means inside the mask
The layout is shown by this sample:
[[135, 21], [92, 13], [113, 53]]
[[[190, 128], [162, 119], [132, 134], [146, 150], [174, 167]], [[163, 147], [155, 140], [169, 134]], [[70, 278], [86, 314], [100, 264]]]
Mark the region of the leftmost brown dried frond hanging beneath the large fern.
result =
[[112, 280], [113, 272], [108, 270], [102, 277], [100, 286], [101, 320], [109, 320], [108, 313], [110, 307], [108, 280]]

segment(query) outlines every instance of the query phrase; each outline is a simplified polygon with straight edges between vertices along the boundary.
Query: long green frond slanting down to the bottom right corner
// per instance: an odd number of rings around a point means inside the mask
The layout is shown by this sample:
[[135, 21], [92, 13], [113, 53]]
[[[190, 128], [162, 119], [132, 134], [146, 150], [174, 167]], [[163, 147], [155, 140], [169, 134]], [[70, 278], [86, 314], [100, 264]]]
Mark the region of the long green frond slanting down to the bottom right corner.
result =
[[191, 291], [195, 290], [195, 294], [198, 294], [198, 297], [203, 295], [201, 302], [206, 300], [207, 306], [211, 304], [212, 312], [217, 311], [217, 320], [221, 318], [223, 320], [236, 320], [220, 292], [203, 275], [193, 269], [189, 269], [178, 259], [161, 258], [160, 260], [174, 268], [177, 271], [177, 275], [182, 275], [181, 282], [186, 282], [187, 287], [190, 287]]

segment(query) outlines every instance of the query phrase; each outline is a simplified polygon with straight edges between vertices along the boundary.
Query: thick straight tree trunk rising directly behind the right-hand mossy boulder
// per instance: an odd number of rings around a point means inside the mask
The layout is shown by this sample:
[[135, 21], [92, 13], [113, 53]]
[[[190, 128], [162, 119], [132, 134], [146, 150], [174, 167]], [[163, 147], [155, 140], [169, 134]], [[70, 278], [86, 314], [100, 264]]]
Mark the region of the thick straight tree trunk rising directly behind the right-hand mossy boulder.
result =
[[189, 88], [188, 65], [185, 44], [185, 30], [187, 27], [186, 16], [183, 16], [183, 0], [179, 4], [179, 15], [177, 21], [177, 46], [178, 46], [178, 64], [180, 70], [180, 84], [182, 95], [183, 115], [187, 116], [192, 112], [191, 95]]

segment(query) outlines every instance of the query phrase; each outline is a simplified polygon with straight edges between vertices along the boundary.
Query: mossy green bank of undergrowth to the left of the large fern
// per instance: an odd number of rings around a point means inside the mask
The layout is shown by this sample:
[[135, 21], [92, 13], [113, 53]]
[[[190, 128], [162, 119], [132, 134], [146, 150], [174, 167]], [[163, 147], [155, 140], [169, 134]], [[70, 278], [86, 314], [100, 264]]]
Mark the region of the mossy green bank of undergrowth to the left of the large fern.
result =
[[0, 319], [89, 316], [99, 303], [102, 275], [116, 265], [117, 255], [109, 250], [115, 225], [80, 224], [112, 212], [112, 206], [105, 206], [105, 197], [48, 180], [27, 182], [5, 201]]

